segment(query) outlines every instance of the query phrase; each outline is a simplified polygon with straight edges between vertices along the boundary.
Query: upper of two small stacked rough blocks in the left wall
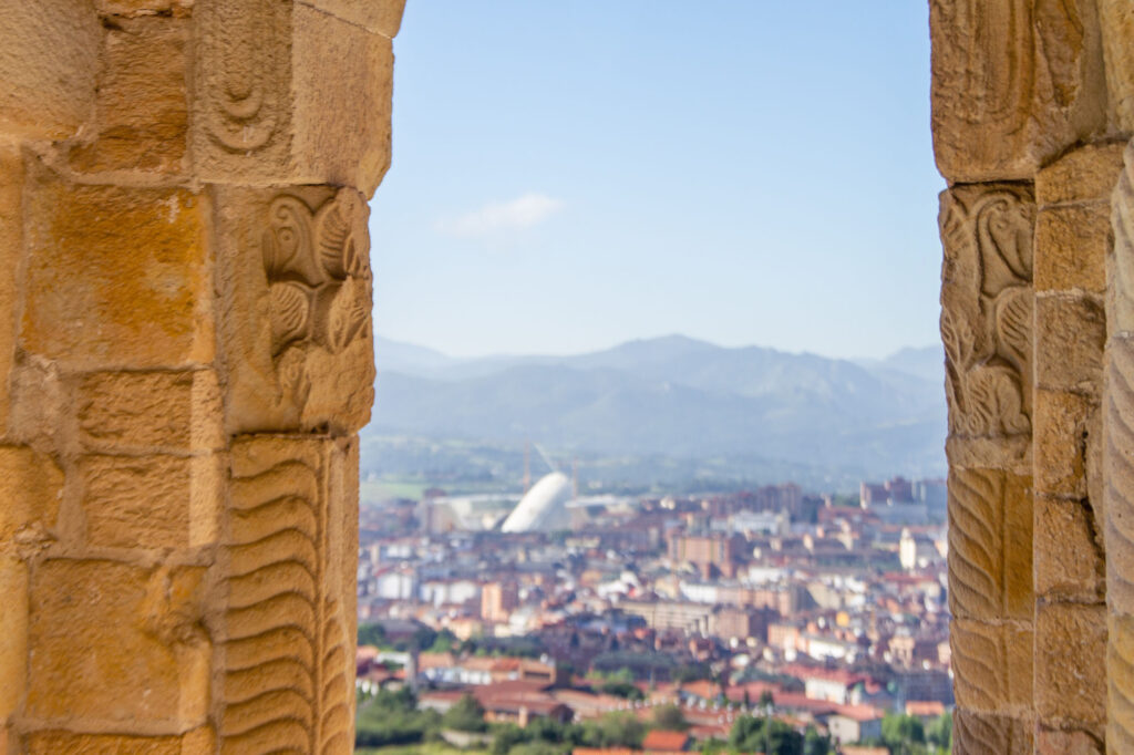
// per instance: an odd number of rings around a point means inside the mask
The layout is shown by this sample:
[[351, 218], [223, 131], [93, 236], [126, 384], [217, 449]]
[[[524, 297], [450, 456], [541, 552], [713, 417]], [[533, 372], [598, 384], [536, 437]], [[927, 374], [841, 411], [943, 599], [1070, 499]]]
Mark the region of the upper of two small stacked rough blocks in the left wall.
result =
[[77, 396], [81, 438], [91, 449], [189, 452], [225, 444], [211, 370], [88, 373]]

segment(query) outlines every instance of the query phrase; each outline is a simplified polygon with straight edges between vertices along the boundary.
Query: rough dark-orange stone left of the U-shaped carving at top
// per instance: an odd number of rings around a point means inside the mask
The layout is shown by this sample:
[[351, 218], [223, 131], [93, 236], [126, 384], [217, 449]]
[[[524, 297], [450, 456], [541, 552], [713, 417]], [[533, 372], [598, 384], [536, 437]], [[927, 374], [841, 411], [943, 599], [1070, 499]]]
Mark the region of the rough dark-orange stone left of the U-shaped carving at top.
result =
[[[168, 5], [168, 3], [164, 3]], [[104, 36], [93, 141], [70, 154], [85, 172], [179, 172], [188, 138], [186, 19], [124, 18]]]

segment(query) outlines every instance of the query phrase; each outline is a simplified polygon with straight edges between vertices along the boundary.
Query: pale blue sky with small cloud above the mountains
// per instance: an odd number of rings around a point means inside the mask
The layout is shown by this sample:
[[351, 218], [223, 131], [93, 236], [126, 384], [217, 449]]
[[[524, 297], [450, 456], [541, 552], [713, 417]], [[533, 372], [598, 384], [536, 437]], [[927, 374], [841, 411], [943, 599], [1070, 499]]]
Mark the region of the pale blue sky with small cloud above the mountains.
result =
[[934, 342], [925, 6], [409, 0], [378, 332], [462, 356]]

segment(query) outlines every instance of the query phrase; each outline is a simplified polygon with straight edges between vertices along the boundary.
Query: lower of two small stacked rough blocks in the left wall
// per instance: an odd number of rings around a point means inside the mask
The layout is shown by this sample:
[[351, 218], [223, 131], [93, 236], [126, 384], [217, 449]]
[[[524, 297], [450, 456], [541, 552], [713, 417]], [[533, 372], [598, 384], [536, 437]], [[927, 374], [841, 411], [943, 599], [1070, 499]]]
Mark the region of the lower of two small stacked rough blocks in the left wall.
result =
[[87, 456], [79, 474], [92, 545], [184, 549], [217, 540], [219, 457]]

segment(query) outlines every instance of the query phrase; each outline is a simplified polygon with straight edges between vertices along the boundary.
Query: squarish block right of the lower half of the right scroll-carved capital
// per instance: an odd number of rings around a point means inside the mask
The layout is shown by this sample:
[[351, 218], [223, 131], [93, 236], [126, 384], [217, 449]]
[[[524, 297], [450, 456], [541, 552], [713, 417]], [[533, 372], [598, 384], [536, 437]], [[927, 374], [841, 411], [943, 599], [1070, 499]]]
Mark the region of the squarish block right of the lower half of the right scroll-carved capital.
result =
[[1035, 380], [1039, 387], [1099, 396], [1107, 317], [1089, 296], [1044, 295], [1035, 302]]

